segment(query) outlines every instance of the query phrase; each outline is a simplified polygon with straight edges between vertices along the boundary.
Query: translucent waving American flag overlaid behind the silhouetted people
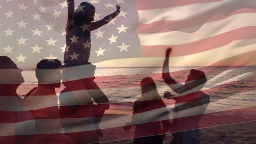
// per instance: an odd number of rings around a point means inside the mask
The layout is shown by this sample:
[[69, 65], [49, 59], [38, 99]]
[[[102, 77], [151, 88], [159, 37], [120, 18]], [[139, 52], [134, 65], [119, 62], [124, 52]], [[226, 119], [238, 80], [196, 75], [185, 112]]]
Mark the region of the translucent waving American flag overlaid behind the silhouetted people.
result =
[[[77, 6], [82, 1], [75, 1]], [[170, 62], [172, 66], [246, 66], [253, 65], [255, 62], [255, 14], [256, 2], [254, 1], [230, 1], [230, 0], [196, 0], [196, 1], [154, 1], [154, 0], [92, 0], [89, 3], [95, 5], [95, 20], [100, 20], [104, 16], [115, 11], [115, 4], [121, 5], [121, 13], [115, 17], [109, 25], [105, 25], [91, 32], [92, 50], [90, 62], [98, 62], [100, 67], [150, 67], [161, 66], [163, 62], [166, 47], [173, 47]], [[65, 51], [65, 28], [67, 21], [67, 2], [66, 1], [13, 1], [6, 0], [1, 2], [2, 21], [1, 23], [1, 55], [9, 56], [19, 67], [31, 68], [36, 65], [40, 59], [57, 58], [63, 61], [63, 52]], [[103, 33], [102, 33], [103, 32]], [[102, 33], [102, 35], [101, 35]], [[115, 40], [111, 40], [112, 35]], [[109, 40], [110, 39], [110, 40]], [[103, 51], [102, 51], [103, 50]], [[101, 53], [99, 52], [101, 51]], [[110, 61], [109, 61], [110, 60]], [[202, 68], [206, 76], [214, 77], [222, 75], [223, 77], [234, 73], [239, 68], [229, 67], [221, 72], [214, 70], [207, 71], [207, 67]], [[246, 71], [248, 72], [248, 71]], [[174, 71], [171, 75], [181, 73], [188, 74], [188, 70]], [[144, 74], [125, 75], [126, 77], [143, 78]], [[150, 74], [152, 77], [159, 77], [160, 74]], [[107, 76], [110, 82], [115, 82], [121, 76]], [[161, 76], [160, 76], [161, 77]], [[106, 77], [97, 77], [98, 81]], [[181, 81], [184, 82], [185, 80]], [[216, 85], [205, 89], [207, 94], [217, 93], [218, 91], [229, 91], [225, 86], [236, 82], [252, 83], [252, 87], [237, 88], [236, 91], [230, 91], [225, 97], [234, 94], [245, 94], [253, 92], [255, 78], [251, 73], [238, 74], [229, 79], [216, 80]], [[129, 88], [138, 87], [127, 85]], [[98, 84], [101, 89], [112, 89], [108, 85]], [[76, 89], [81, 90], [81, 89]], [[252, 93], [253, 94], [253, 93]], [[179, 95], [182, 103], [186, 101], [186, 95]], [[212, 99], [212, 98], [211, 98]], [[213, 98], [214, 99], [214, 98]], [[123, 105], [129, 105], [133, 101], [126, 101]], [[211, 101], [212, 102], [212, 101]], [[173, 105], [173, 101], [166, 103], [167, 106]], [[115, 104], [113, 104], [115, 105]], [[121, 104], [118, 104], [121, 105]], [[57, 106], [57, 105], [52, 105]], [[34, 112], [45, 107], [37, 107]], [[47, 108], [47, 107], [46, 107]], [[122, 106], [120, 106], [122, 109]], [[214, 112], [243, 112], [253, 111], [255, 107], [240, 107], [240, 109], [226, 109]], [[152, 112], [152, 110], [148, 110]], [[160, 110], [161, 111], [161, 110]], [[3, 115], [4, 112], [2, 111]], [[18, 113], [24, 111], [18, 111]], [[8, 113], [8, 111], [7, 111]], [[116, 112], [118, 113], [118, 112]], [[208, 113], [213, 113], [209, 112]], [[124, 113], [122, 113], [124, 114]], [[118, 115], [118, 114], [117, 114]], [[134, 137], [134, 129], [125, 132], [124, 119], [128, 119], [131, 113], [125, 113], [117, 117], [110, 115], [106, 121], [101, 122], [102, 133], [106, 134], [102, 141], [113, 141], [121, 139], [130, 139]], [[255, 121], [255, 118], [234, 118], [219, 117], [214, 119], [212, 115], [205, 113], [193, 113], [193, 115], [184, 115], [184, 119], [202, 115], [200, 128], [213, 127], [224, 124]], [[82, 113], [75, 118], [88, 118]], [[49, 121], [56, 117], [49, 117]], [[170, 116], [170, 121], [172, 120]], [[179, 117], [176, 117], [179, 118]], [[36, 139], [42, 139], [44, 135], [53, 137], [65, 136], [65, 131], [61, 133], [53, 132], [50, 134], [28, 133], [25, 129], [25, 123], [33, 120], [31, 117], [24, 117], [22, 121], [10, 123], [1, 122], [2, 128], [19, 127], [19, 134], [1, 133], [0, 141], [13, 135], [30, 139], [34, 135]], [[45, 119], [38, 119], [44, 122]], [[68, 121], [68, 120], [67, 120]], [[188, 120], [187, 120], [188, 121]], [[147, 121], [147, 123], [152, 121]], [[143, 124], [143, 123], [138, 123]], [[2, 129], [1, 128], [1, 129]], [[186, 127], [180, 130], [195, 129], [197, 127]], [[88, 133], [90, 125], [86, 130], [76, 129], [73, 133]], [[110, 133], [112, 132], [112, 133]], [[174, 132], [172, 129], [168, 133]], [[71, 134], [71, 133], [69, 133]], [[109, 134], [109, 135], [107, 135]], [[68, 134], [67, 134], [68, 135]], [[147, 136], [147, 135], [144, 135]], [[33, 143], [33, 141], [31, 142]]]

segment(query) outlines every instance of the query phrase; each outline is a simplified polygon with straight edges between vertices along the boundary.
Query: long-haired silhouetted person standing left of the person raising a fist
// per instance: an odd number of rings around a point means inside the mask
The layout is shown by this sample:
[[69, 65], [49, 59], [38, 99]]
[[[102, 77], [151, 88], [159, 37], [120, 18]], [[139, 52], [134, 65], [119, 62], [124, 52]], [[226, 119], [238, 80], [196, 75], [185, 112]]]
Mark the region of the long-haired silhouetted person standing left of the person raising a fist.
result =
[[[170, 129], [168, 110], [156, 89], [154, 80], [146, 77], [141, 81], [141, 98], [133, 104], [132, 121], [125, 131], [135, 128], [133, 143], [162, 143], [162, 136]], [[163, 127], [161, 128], [161, 123]]]

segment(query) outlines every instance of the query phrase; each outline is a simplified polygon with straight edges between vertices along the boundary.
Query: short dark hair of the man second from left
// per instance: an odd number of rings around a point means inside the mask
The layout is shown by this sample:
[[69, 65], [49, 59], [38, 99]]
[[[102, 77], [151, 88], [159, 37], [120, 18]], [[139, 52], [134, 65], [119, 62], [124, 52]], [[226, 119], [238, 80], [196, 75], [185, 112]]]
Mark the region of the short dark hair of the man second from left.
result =
[[[42, 71], [42, 69], [59, 69], [61, 68], [61, 61], [59, 59], [53, 59], [54, 62], [49, 62], [49, 59], [43, 59], [39, 63], [37, 63], [36, 68], [36, 77], [38, 81], [43, 81], [42, 74], [47, 73], [46, 71]], [[40, 70], [41, 69], [41, 70]], [[49, 71], [48, 71], [49, 73]]]

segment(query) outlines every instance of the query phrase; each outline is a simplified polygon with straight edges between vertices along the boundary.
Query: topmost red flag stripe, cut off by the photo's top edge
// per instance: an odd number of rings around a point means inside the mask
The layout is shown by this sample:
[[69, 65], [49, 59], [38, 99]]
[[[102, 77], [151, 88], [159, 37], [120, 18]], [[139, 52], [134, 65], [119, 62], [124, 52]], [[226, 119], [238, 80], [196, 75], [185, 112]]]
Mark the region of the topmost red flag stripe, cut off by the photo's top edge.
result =
[[196, 4], [196, 3], [210, 3], [210, 2], [219, 2], [222, 0], [138, 0], [138, 10], [147, 10], [147, 9], [161, 9], [169, 7], [178, 7], [182, 5]]

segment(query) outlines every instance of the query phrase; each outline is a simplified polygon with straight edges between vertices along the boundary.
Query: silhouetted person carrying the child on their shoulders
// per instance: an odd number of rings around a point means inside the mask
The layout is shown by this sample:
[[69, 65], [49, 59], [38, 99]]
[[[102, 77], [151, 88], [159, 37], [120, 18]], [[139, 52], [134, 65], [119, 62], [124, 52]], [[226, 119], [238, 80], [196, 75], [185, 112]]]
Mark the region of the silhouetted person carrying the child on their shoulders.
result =
[[101, 136], [98, 124], [104, 111], [109, 108], [109, 104], [96, 106], [92, 101], [93, 98], [98, 104], [108, 103], [106, 95], [94, 82], [95, 69], [95, 65], [87, 63], [70, 67], [66, 64], [62, 70], [63, 85], [66, 88], [60, 94], [61, 125], [66, 133], [73, 133], [70, 136], [74, 143], [98, 142], [98, 135]]

